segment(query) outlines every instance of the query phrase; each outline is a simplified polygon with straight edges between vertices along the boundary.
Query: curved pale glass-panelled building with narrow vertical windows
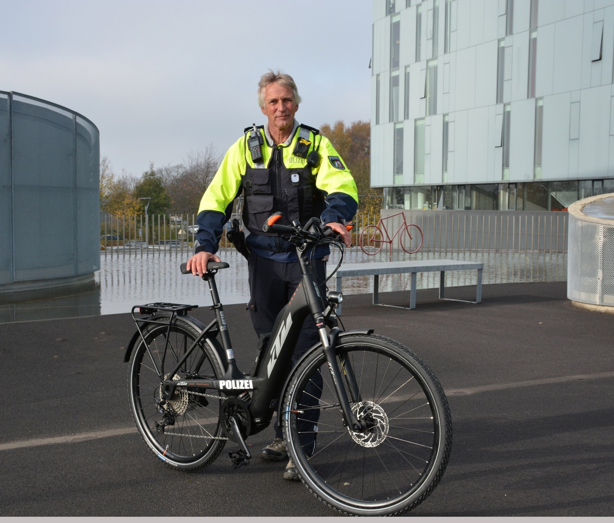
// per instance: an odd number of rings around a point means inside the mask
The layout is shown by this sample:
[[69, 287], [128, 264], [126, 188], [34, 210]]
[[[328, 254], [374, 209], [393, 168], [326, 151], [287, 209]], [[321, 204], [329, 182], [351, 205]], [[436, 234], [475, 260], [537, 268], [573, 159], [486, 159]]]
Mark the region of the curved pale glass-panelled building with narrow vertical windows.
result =
[[374, 0], [371, 75], [384, 208], [614, 192], [614, 0]]

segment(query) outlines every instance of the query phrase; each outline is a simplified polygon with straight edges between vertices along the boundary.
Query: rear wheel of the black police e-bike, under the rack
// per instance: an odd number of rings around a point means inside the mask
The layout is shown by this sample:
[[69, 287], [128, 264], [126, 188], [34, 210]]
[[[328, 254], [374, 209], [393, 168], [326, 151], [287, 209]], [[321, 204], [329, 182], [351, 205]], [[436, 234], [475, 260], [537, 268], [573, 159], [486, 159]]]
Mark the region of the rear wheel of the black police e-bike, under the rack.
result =
[[[169, 379], [199, 332], [179, 318], [170, 329], [169, 318], [158, 320], [162, 324], [149, 324], [144, 330], [146, 343], [141, 340], [133, 350], [128, 376], [132, 415], [149, 449], [166, 465], [198, 470], [215, 460], [225, 445], [220, 423], [220, 404], [225, 398], [217, 390], [176, 387], [171, 399], [162, 399], [160, 374]], [[202, 340], [173, 378], [221, 376], [213, 349]]]

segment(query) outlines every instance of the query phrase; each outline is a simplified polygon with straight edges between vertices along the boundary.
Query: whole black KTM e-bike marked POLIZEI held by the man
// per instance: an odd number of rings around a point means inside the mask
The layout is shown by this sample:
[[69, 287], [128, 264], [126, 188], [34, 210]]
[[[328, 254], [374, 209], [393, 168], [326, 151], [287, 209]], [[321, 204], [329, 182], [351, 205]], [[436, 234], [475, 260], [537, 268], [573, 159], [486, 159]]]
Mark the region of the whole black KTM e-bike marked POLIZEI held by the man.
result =
[[[133, 307], [137, 331], [125, 361], [139, 433], [166, 465], [184, 471], [209, 465], [230, 439], [239, 450], [228, 457], [239, 468], [251, 458], [245, 440], [277, 411], [298, 476], [317, 498], [346, 514], [405, 513], [429, 496], [448, 463], [445, 393], [409, 348], [372, 329], [343, 330], [335, 315], [343, 296], [322, 296], [306, 254], [328, 243], [342, 261], [340, 238], [317, 219], [282, 226], [278, 218], [263, 229], [292, 242], [303, 277], [273, 332], [261, 337], [249, 374], [236, 366], [217, 293], [215, 275], [227, 263], [209, 262], [203, 275], [215, 313], [208, 325], [188, 315], [196, 305]], [[289, 372], [309, 315], [320, 342]]]

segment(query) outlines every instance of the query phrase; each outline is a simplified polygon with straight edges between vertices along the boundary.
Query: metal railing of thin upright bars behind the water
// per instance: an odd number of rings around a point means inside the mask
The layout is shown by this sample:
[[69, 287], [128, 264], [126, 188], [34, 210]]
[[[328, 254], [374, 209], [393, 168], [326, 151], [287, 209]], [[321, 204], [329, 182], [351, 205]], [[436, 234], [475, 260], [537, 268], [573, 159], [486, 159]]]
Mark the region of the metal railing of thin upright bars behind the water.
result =
[[[381, 210], [386, 218], [398, 210]], [[565, 212], [404, 211], [406, 221], [422, 229], [421, 251], [430, 253], [567, 253], [569, 219]], [[239, 218], [239, 216], [233, 216]], [[376, 224], [379, 214], [357, 213], [352, 243], [360, 231]], [[398, 220], [398, 223], [396, 221]], [[396, 230], [401, 218], [393, 218]], [[104, 256], [155, 256], [170, 251], [193, 252], [196, 214], [171, 216], [101, 216], [101, 253]], [[231, 246], [225, 234], [220, 248]], [[398, 237], [392, 244], [399, 250]]]

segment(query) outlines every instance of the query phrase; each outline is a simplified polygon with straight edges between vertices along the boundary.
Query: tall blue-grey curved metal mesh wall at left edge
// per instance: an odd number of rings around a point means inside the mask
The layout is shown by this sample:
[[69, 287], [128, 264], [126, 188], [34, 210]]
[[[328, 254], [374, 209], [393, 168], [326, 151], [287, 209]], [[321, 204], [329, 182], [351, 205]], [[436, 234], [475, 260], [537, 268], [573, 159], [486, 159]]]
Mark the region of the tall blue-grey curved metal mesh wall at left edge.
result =
[[90, 120], [0, 92], [0, 291], [99, 270], [99, 154]]

